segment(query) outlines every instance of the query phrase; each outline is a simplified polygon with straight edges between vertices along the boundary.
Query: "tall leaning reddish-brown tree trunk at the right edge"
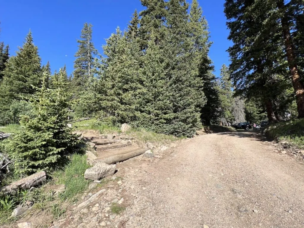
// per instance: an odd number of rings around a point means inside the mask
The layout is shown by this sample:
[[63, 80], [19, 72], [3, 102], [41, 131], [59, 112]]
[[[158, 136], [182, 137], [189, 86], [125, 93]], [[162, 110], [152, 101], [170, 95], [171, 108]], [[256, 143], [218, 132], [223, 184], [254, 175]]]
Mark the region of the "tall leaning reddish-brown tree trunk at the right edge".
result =
[[[278, 0], [277, 6], [279, 9], [284, 9], [284, 0]], [[285, 50], [287, 55], [288, 67], [291, 73], [292, 86], [295, 90], [295, 98], [297, 102], [299, 118], [304, 117], [304, 86], [301, 83], [298, 66], [295, 62], [295, 48], [292, 43], [292, 36], [288, 22], [288, 14], [285, 12], [281, 18], [283, 35], [285, 38]]]

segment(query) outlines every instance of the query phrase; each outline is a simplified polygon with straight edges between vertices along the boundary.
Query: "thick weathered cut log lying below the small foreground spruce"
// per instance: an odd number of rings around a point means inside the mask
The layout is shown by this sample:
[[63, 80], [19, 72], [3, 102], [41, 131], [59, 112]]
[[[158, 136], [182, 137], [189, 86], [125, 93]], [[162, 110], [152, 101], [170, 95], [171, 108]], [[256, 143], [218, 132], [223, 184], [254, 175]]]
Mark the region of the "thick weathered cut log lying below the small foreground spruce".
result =
[[45, 172], [40, 171], [26, 178], [22, 178], [19, 181], [15, 181], [7, 186], [4, 186], [3, 188], [0, 188], [0, 192], [4, 194], [15, 194], [18, 192], [18, 189], [29, 189], [31, 187], [42, 184], [46, 178], [47, 175]]

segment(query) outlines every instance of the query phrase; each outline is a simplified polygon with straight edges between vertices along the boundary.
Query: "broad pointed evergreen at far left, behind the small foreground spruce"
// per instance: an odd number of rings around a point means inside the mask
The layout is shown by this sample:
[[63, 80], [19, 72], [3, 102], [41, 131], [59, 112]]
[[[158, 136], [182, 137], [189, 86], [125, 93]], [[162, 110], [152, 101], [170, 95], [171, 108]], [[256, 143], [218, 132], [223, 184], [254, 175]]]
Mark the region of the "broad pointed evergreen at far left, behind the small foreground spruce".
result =
[[23, 46], [19, 47], [16, 56], [9, 58], [3, 71], [4, 77], [0, 85], [0, 123], [12, 121], [8, 112], [14, 100], [27, 99], [35, 93], [32, 85], [38, 87], [42, 81], [40, 62], [38, 48], [29, 32]]

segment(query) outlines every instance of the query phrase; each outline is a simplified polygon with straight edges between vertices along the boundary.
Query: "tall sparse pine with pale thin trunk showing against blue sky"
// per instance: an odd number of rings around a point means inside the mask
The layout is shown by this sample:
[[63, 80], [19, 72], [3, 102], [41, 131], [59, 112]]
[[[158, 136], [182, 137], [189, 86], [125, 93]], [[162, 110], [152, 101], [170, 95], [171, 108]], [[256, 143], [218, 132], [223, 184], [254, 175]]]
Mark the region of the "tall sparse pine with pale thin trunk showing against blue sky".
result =
[[85, 83], [90, 77], [94, 77], [97, 73], [95, 56], [98, 54], [92, 42], [92, 25], [85, 23], [82, 30], [80, 40], [77, 40], [78, 51], [75, 54], [74, 61], [73, 84], [75, 90], [84, 89]]

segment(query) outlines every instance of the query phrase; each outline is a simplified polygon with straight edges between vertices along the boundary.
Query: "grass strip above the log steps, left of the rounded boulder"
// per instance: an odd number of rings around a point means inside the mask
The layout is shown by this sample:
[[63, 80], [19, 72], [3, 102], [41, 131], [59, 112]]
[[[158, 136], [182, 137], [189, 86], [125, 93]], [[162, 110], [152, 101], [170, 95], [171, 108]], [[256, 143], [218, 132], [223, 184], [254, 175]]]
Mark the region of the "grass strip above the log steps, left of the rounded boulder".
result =
[[119, 127], [109, 126], [108, 124], [98, 121], [96, 119], [88, 119], [75, 122], [74, 126], [77, 130], [98, 130], [101, 134], [121, 132]]

